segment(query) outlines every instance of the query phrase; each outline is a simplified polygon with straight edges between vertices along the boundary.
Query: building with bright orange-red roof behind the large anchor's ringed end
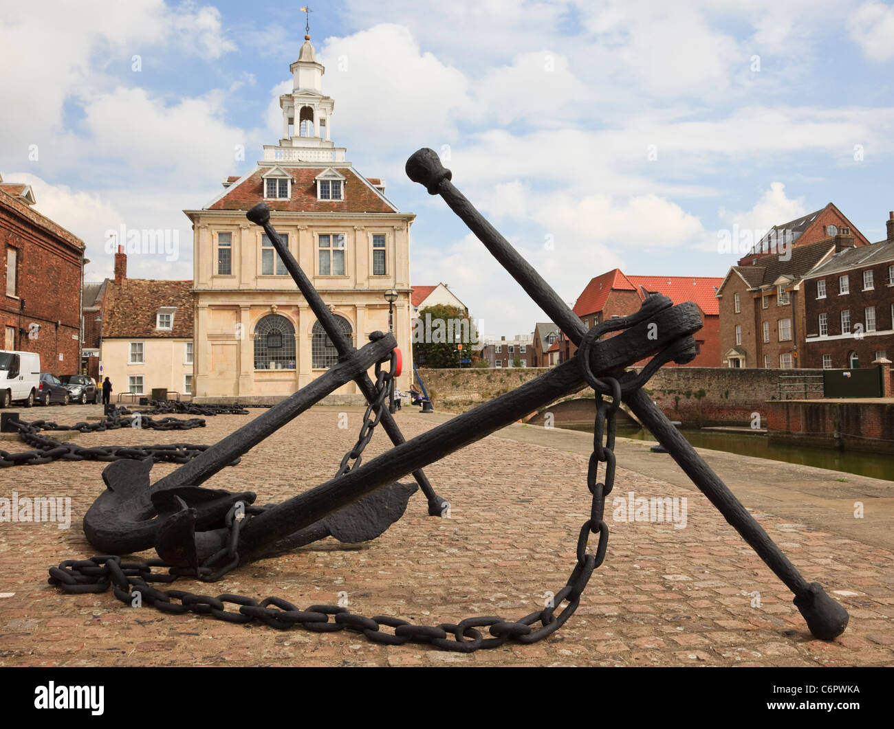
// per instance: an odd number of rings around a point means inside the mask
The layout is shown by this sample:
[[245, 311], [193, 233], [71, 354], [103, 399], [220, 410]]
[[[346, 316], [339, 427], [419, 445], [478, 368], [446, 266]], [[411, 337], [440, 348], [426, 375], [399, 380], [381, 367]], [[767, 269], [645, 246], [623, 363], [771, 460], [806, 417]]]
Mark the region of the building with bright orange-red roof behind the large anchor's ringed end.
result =
[[[719, 367], [720, 310], [715, 294], [721, 281], [720, 278], [699, 276], [633, 276], [615, 268], [596, 276], [586, 285], [574, 305], [574, 313], [589, 329], [606, 319], [635, 314], [645, 298], [653, 294], [663, 294], [675, 305], [693, 301], [701, 309], [704, 325], [695, 335], [698, 356], [684, 366]], [[563, 335], [559, 360], [564, 362], [576, 351], [577, 347]], [[642, 364], [645, 362], [637, 363], [637, 366]]]

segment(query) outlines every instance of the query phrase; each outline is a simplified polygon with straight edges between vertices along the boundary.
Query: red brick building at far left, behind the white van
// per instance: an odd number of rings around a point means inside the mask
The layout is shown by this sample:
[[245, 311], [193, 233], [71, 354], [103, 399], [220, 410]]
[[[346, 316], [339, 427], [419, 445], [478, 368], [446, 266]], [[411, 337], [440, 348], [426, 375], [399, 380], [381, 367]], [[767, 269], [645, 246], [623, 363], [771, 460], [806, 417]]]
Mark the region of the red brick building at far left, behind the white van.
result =
[[3, 348], [37, 352], [43, 372], [77, 373], [84, 243], [34, 202], [30, 186], [0, 179]]

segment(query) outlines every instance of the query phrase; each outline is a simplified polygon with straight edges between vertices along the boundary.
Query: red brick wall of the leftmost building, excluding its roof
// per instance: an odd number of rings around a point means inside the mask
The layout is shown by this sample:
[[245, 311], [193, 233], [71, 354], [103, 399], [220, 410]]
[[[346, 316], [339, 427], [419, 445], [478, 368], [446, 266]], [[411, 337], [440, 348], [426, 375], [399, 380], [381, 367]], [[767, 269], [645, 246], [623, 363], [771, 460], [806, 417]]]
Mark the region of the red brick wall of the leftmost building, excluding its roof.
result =
[[[6, 296], [6, 250], [18, 257], [17, 297]], [[30, 220], [0, 208], [0, 335], [15, 331], [13, 348], [38, 352], [44, 372], [80, 371], [80, 253]], [[21, 301], [24, 300], [24, 308]], [[32, 323], [38, 339], [30, 339]], [[20, 333], [25, 330], [25, 334]], [[0, 346], [5, 346], [0, 339]], [[62, 361], [59, 355], [63, 356]]]

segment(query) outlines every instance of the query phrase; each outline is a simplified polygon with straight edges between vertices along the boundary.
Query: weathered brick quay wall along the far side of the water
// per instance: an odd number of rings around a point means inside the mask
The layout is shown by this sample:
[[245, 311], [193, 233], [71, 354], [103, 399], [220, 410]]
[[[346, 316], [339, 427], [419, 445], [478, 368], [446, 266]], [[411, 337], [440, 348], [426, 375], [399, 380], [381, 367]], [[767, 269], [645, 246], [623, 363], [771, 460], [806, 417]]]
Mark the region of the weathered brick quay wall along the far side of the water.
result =
[[[463, 412], [547, 370], [420, 369], [436, 409]], [[802, 370], [799, 374], [820, 371]], [[671, 420], [687, 425], [751, 424], [752, 413], [765, 419], [766, 401], [779, 394], [779, 370], [726, 367], [663, 367], [646, 384], [649, 394]], [[590, 397], [581, 390], [576, 397]], [[556, 422], [561, 427], [561, 423]]]

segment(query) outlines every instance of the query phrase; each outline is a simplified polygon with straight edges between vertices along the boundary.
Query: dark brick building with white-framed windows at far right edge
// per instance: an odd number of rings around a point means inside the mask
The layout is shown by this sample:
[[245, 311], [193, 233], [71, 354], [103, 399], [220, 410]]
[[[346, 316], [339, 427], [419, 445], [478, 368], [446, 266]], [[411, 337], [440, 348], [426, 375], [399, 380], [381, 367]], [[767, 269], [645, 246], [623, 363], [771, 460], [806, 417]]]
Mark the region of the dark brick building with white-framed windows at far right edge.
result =
[[853, 369], [894, 357], [894, 212], [888, 236], [841, 250], [804, 277], [805, 367]]

